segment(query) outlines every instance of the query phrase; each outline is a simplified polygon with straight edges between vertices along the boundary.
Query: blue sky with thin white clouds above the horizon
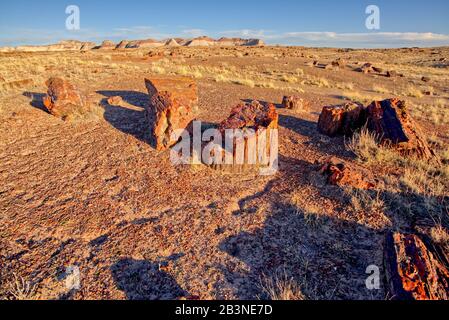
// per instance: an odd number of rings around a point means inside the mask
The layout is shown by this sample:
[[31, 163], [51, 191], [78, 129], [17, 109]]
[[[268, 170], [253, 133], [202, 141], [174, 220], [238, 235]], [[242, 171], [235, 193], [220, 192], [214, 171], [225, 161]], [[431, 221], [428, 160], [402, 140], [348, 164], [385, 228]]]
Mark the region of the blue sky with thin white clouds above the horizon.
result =
[[[380, 30], [365, 27], [371, 4], [380, 8]], [[78, 31], [65, 28], [68, 5], [80, 8]], [[437, 46], [449, 45], [448, 21], [447, 0], [14, 0], [0, 2], [0, 46], [199, 35], [306, 46]]]

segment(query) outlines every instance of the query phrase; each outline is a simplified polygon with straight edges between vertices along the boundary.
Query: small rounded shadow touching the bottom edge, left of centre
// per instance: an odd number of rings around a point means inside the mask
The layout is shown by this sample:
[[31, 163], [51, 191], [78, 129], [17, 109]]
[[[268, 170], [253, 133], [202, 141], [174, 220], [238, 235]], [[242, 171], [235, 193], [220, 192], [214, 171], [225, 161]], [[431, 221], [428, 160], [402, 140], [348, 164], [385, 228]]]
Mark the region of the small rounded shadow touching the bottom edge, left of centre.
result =
[[159, 270], [159, 263], [122, 259], [111, 267], [119, 290], [129, 300], [174, 300], [187, 296], [176, 280]]

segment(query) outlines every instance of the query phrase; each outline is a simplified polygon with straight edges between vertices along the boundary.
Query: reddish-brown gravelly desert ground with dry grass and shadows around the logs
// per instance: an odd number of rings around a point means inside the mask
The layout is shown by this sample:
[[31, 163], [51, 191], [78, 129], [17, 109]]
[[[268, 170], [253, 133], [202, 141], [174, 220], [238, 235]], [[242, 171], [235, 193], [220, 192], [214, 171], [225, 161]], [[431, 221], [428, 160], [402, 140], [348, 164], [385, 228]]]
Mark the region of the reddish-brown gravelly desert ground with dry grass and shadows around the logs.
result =
[[[347, 65], [324, 67], [337, 58]], [[358, 72], [366, 62], [402, 76]], [[276, 104], [279, 171], [172, 165], [143, 115], [144, 78], [156, 75], [194, 78], [197, 119], [211, 125], [241, 101]], [[91, 111], [49, 114], [52, 76]], [[285, 95], [311, 110], [281, 108]], [[317, 130], [323, 106], [392, 97], [407, 101], [438, 163]], [[419, 230], [449, 250], [448, 128], [447, 47], [0, 53], [0, 298], [389, 299], [384, 281], [365, 284], [370, 265], [384, 275], [388, 231]], [[368, 169], [374, 190], [327, 184], [317, 173], [327, 156]], [[67, 289], [69, 266], [79, 289]]]

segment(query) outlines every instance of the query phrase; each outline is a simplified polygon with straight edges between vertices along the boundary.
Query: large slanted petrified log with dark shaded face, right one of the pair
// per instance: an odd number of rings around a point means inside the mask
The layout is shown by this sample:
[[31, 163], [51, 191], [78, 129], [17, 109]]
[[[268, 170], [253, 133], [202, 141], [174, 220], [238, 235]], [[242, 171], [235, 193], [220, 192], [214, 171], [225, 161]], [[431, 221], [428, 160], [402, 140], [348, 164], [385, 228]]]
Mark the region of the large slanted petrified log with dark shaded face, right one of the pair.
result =
[[431, 159], [435, 153], [422, 138], [419, 126], [407, 112], [405, 101], [387, 99], [374, 101], [366, 109], [368, 130], [376, 133], [382, 143], [401, 154]]

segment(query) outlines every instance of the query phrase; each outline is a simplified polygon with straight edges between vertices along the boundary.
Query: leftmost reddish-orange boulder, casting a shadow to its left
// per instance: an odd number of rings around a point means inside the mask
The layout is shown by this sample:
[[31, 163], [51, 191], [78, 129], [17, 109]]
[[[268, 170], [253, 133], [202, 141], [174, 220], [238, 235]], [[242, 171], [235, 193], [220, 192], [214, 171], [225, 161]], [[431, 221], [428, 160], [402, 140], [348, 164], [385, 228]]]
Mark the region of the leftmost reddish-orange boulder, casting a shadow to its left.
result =
[[68, 81], [61, 78], [50, 78], [45, 83], [47, 95], [43, 99], [44, 106], [54, 116], [65, 119], [73, 114], [87, 111], [85, 98]]

